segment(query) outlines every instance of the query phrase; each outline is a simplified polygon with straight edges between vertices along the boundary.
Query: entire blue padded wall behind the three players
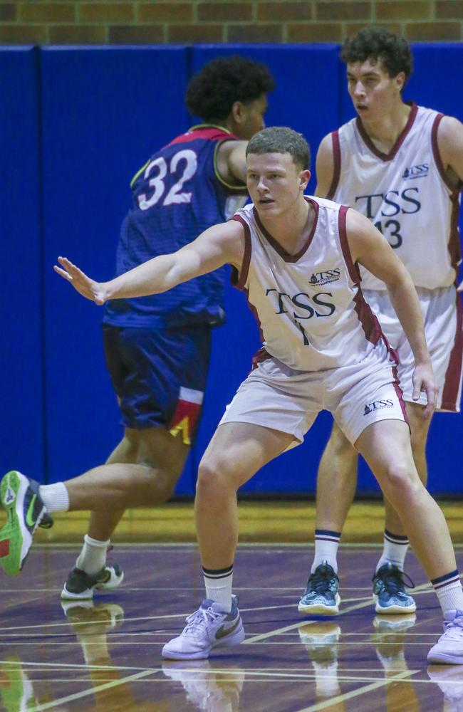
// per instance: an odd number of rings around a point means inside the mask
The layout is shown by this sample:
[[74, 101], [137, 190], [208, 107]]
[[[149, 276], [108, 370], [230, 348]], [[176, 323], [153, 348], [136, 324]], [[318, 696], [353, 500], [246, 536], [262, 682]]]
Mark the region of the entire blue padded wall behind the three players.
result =
[[[189, 125], [183, 95], [192, 72], [231, 53], [269, 65], [277, 88], [269, 95], [266, 122], [301, 131], [311, 143], [314, 167], [323, 135], [353, 116], [338, 46], [1, 49], [0, 101], [9, 108], [0, 113], [0, 288], [8, 305], [0, 357], [3, 468], [24, 468], [38, 478], [48, 472], [48, 481], [56, 481], [103, 462], [120, 439], [101, 311], [52, 266], [66, 254], [95, 278], [113, 275], [132, 175]], [[413, 53], [406, 98], [462, 118], [463, 97], [455, 88], [463, 81], [463, 45], [421, 44]], [[313, 177], [311, 191], [315, 184]], [[225, 303], [228, 320], [214, 330], [197, 444], [177, 493], [193, 492], [200, 456], [259, 347], [244, 295], [228, 286]], [[331, 417], [321, 414], [306, 443], [266, 466], [244, 491], [313, 492], [330, 426]], [[461, 491], [455, 463], [462, 431], [463, 416], [435, 417], [429, 443], [433, 492]], [[377, 491], [366, 467], [359, 491]]]

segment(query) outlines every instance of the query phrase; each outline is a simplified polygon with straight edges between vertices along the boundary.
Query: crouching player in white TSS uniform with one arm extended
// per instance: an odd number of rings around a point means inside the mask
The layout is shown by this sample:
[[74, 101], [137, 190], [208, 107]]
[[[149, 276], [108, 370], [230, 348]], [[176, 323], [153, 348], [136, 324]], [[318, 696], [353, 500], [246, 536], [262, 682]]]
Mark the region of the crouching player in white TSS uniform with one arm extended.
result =
[[[195, 501], [206, 599], [183, 632], [165, 644], [168, 659], [207, 658], [244, 639], [232, 595], [236, 491], [286, 449], [303, 441], [319, 411], [330, 410], [407, 518], [410, 540], [435, 585], [446, 632], [428, 659], [463, 664], [463, 591], [444, 516], [417, 474], [395, 356], [360, 290], [358, 265], [385, 282], [415, 357], [413, 389], [435, 407], [435, 379], [420, 304], [402, 262], [363, 215], [304, 197], [310, 172], [303, 137], [273, 127], [247, 156], [254, 205], [170, 255], [97, 283], [58, 258], [56, 271], [85, 297], [105, 300], [160, 293], [224, 263], [235, 268], [261, 323], [263, 349], [241, 384], [199, 466]], [[346, 348], [348, 344], [348, 348]]]

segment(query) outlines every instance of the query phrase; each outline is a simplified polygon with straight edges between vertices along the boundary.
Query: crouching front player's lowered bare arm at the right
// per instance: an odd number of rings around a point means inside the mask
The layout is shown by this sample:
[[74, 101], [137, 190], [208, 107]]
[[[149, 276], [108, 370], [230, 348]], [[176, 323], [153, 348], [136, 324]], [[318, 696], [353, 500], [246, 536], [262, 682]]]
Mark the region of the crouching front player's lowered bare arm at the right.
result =
[[346, 228], [353, 261], [358, 261], [387, 287], [392, 306], [415, 357], [412, 397], [413, 400], [418, 400], [420, 391], [426, 392], [427, 405], [422, 414], [424, 418], [430, 417], [435, 409], [437, 387], [430, 353], [427, 350], [420, 302], [412, 278], [387, 240], [365, 216], [349, 209]]

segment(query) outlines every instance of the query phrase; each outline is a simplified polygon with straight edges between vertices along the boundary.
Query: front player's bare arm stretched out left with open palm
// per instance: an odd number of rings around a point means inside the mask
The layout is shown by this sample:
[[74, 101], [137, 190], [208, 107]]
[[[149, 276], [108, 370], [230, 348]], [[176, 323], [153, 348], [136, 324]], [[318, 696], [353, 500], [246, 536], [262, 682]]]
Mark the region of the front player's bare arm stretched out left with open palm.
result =
[[58, 257], [61, 267], [55, 265], [53, 269], [71, 282], [79, 294], [101, 305], [109, 299], [166, 292], [226, 263], [240, 268], [243, 255], [244, 229], [231, 220], [205, 230], [177, 252], [154, 257], [109, 282], [95, 282], [66, 257]]

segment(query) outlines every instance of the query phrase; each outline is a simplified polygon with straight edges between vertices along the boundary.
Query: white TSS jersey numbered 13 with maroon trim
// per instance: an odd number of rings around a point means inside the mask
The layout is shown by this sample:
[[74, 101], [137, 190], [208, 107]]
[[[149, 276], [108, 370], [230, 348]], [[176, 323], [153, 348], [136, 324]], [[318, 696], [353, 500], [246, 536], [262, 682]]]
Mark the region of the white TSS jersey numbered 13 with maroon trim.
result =
[[[328, 197], [355, 208], [383, 233], [417, 287], [454, 283], [461, 259], [459, 191], [444, 176], [437, 147], [442, 114], [412, 104], [389, 154], [353, 119], [332, 133], [334, 175]], [[385, 284], [361, 269], [365, 289]]]

